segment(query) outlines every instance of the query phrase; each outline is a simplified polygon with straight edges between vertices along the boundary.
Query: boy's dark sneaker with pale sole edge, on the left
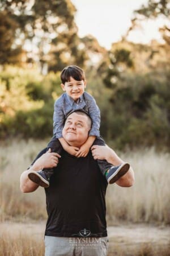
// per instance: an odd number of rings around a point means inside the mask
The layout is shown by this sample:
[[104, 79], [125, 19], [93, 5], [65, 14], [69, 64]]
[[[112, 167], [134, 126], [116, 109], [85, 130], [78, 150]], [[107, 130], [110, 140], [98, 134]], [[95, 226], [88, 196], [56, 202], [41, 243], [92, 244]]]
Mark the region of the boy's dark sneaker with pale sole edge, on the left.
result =
[[43, 170], [40, 171], [30, 171], [28, 177], [30, 180], [40, 185], [41, 187], [48, 188], [49, 187], [49, 177], [46, 177], [45, 172]]

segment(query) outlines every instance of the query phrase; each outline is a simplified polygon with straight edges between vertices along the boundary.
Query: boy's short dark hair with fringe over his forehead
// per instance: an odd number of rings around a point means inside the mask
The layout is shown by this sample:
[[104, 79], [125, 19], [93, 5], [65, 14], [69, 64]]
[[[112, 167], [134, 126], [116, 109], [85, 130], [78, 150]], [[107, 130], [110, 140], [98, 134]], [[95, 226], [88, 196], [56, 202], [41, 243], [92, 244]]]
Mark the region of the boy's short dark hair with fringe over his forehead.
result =
[[76, 81], [85, 80], [83, 69], [79, 68], [76, 65], [67, 66], [61, 71], [60, 78], [61, 78], [62, 84], [65, 84], [65, 82], [68, 82], [70, 80], [70, 76], [73, 77]]

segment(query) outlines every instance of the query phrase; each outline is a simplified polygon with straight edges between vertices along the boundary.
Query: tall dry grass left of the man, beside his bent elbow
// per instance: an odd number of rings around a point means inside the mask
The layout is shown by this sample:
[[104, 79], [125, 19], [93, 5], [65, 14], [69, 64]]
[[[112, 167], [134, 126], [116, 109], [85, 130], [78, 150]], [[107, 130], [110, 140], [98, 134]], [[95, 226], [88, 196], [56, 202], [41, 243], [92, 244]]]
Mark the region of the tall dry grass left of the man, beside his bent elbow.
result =
[[0, 146], [0, 220], [11, 218], [45, 218], [45, 192], [40, 188], [35, 193], [20, 192], [20, 174], [29, 167], [37, 152], [46, 142], [12, 141]]

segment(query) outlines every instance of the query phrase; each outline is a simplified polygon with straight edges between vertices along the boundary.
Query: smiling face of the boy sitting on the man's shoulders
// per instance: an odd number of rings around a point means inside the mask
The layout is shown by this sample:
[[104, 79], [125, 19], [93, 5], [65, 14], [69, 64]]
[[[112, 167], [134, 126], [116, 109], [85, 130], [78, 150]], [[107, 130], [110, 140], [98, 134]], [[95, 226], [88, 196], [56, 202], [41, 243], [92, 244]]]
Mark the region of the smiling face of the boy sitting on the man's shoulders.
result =
[[78, 101], [84, 92], [84, 88], [86, 88], [86, 81], [77, 81], [72, 76], [70, 76], [70, 80], [65, 82], [65, 84], [61, 84], [61, 88], [71, 98], [73, 98], [74, 101]]

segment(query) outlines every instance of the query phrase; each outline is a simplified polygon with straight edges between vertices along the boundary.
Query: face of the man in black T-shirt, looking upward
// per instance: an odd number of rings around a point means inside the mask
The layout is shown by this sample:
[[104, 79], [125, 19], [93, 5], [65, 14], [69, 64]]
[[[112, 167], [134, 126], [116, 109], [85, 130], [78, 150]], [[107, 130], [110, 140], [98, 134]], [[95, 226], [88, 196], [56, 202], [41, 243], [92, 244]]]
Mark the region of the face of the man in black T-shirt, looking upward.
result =
[[88, 117], [74, 112], [67, 117], [62, 135], [70, 146], [80, 147], [87, 141], [88, 131]]

